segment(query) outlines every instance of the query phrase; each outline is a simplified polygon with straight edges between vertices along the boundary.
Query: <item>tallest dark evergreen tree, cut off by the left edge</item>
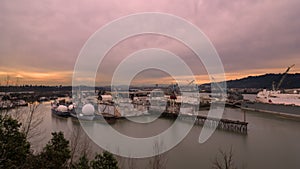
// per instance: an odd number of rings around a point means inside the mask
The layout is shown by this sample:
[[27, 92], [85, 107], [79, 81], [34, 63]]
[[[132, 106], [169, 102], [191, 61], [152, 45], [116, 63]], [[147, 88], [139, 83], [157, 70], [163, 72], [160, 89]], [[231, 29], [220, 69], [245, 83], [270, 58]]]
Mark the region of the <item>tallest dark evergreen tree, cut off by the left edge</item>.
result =
[[21, 168], [30, 155], [30, 144], [20, 126], [17, 120], [0, 115], [0, 168]]

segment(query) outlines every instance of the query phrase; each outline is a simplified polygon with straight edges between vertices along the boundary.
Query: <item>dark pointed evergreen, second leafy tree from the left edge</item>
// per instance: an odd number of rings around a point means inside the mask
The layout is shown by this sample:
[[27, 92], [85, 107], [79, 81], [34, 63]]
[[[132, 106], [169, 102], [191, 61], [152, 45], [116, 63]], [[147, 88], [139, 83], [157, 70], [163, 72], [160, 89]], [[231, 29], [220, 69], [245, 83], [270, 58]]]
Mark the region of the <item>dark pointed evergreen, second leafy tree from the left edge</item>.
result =
[[52, 133], [52, 139], [39, 157], [41, 168], [67, 168], [70, 158], [69, 141], [64, 138], [62, 132]]

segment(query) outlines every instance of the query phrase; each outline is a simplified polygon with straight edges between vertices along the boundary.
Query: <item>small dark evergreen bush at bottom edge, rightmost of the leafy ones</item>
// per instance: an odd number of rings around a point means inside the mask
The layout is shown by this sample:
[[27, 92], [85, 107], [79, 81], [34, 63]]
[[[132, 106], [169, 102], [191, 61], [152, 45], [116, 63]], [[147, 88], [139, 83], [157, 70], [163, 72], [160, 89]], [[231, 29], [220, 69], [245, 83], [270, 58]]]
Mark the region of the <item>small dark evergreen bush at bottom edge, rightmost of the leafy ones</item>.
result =
[[118, 161], [108, 151], [104, 151], [103, 154], [97, 154], [95, 159], [91, 161], [91, 167], [93, 169], [119, 169]]

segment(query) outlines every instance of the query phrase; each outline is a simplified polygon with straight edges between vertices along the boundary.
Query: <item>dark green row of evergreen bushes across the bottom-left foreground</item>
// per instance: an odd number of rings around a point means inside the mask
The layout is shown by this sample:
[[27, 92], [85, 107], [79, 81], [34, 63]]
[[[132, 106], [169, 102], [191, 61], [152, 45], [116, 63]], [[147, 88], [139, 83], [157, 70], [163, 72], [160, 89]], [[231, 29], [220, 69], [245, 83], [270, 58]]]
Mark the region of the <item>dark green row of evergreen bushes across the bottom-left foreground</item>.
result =
[[52, 139], [42, 152], [34, 155], [17, 120], [0, 115], [0, 168], [6, 169], [118, 169], [115, 157], [105, 151], [89, 161], [86, 154], [70, 164], [69, 141], [62, 132], [52, 133]]

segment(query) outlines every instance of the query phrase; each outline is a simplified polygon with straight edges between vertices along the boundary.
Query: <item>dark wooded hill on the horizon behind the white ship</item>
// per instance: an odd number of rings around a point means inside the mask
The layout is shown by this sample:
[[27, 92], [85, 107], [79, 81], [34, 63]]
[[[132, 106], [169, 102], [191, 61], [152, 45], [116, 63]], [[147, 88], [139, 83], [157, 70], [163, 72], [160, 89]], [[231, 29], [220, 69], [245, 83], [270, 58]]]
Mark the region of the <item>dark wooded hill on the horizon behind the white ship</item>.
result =
[[[282, 74], [265, 74], [259, 76], [248, 76], [246, 78], [227, 81], [228, 88], [272, 88], [273, 81], [277, 85]], [[208, 84], [203, 84], [208, 85]], [[202, 85], [200, 85], [201, 87]], [[287, 74], [280, 89], [300, 88], [300, 73]]]

